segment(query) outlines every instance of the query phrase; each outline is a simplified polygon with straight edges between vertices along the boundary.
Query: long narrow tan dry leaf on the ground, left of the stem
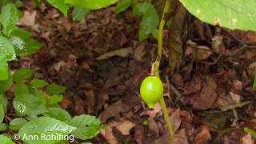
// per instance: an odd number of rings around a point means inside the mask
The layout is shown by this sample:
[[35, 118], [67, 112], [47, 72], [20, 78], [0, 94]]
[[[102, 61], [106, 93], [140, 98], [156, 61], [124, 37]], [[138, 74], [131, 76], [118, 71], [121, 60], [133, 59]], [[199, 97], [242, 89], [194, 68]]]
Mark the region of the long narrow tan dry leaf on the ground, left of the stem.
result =
[[96, 58], [96, 60], [108, 59], [108, 58], [112, 58], [114, 56], [125, 58], [125, 57], [128, 57], [130, 54], [133, 54], [133, 53], [134, 53], [134, 51], [130, 47], [122, 48], [122, 49], [110, 51], [106, 54], [102, 54], [101, 56]]

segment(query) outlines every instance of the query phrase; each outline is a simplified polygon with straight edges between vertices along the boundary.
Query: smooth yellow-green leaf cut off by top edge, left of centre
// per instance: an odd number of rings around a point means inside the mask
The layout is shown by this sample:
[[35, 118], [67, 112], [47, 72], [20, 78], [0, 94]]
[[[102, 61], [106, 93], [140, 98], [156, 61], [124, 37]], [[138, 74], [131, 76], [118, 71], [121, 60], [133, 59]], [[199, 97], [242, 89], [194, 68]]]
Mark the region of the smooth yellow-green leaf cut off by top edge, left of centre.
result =
[[86, 8], [88, 10], [97, 10], [103, 7], [110, 6], [117, 2], [117, 0], [65, 0], [65, 3], [69, 3], [73, 6]]

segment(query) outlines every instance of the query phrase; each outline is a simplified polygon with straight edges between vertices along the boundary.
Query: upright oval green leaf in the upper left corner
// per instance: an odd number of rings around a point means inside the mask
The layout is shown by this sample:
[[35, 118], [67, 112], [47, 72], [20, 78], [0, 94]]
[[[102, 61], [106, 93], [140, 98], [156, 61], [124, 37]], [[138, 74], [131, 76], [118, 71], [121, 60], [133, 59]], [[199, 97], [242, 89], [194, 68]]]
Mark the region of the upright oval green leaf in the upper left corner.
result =
[[8, 3], [2, 7], [0, 21], [6, 34], [14, 29], [16, 22], [18, 22], [18, 9], [14, 3]]

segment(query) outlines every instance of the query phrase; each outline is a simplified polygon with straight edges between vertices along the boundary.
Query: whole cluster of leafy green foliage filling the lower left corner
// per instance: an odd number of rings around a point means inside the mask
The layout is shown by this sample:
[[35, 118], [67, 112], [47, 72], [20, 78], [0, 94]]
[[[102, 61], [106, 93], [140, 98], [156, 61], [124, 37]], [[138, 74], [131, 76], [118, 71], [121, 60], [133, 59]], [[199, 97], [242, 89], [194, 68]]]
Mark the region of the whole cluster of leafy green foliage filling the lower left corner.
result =
[[[66, 87], [49, 84], [42, 79], [31, 79], [32, 74], [32, 70], [20, 69], [7, 80], [0, 81], [0, 122], [3, 122], [0, 131], [13, 131], [13, 133], [17, 131], [23, 142], [58, 143], [71, 142], [74, 138], [82, 140], [94, 138], [99, 134], [99, 130], [104, 128], [94, 116], [82, 114], [72, 118], [58, 105], [58, 102], [62, 102], [62, 93]], [[5, 97], [6, 90], [11, 87], [14, 90], [12, 101]], [[16, 112], [13, 119], [6, 114], [10, 102]], [[1, 134], [1, 137], [8, 138], [6, 135], [8, 136], [6, 133]], [[31, 135], [35, 139], [28, 137]], [[50, 138], [51, 135], [59, 136], [59, 139]], [[11, 139], [9, 141], [12, 142]]]

